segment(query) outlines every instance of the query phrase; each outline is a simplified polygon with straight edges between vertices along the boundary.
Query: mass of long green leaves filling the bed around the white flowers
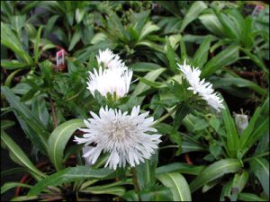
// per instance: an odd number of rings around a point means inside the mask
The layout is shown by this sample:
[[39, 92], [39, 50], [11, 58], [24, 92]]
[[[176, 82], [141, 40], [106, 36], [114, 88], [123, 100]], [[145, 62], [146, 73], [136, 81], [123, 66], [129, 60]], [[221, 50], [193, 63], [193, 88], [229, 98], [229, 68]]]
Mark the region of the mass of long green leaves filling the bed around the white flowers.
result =
[[[86, 166], [82, 145], [70, 141], [76, 128], [84, 127], [88, 111], [104, 104], [101, 95], [94, 99], [86, 90], [86, 78], [97, 66], [97, 51], [111, 48], [139, 80], [112, 106], [150, 110], [160, 119], [155, 127], [164, 135], [157, 154], [136, 167], [143, 200], [188, 201], [197, 189], [205, 193], [220, 187], [220, 200], [269, 199], [269, 6], [246, 16], [248, 4], [1, 2], [1, 145], [20, 165], [1, 172], [1, 178], [29, 172], [35, 180], [7, 182], [1, 194], [23, 187], [27, 194], [14, 200], [66, 199], [72, 189], [75, 200], [101, 194], [139, 200], [130, 168], [101, 168], [106, 154]], [[67, 53], [65, 66], [58, 68], [55, 55], [61, 48]], [[202, 78], [214, 88], [256, 103], [241, 134], [231, 106], [217, 114], [188, 99], [193, 92], [187, 91], [176, 65], [184, 60], [200, 67]], [[242, 77], [242, 70], [259, 78]], [[40, 171], [8, 135], [15, 124], [6, 119], [11, 112], [36, 155], [49, 159], [53, 173]], [[176, 150], [168, 161], [164, 155], [169, 148]], [[185, 154], [200, 154], [202, 159], [180, 162]], [[72, 155], [75, 167], [67, 166]]]

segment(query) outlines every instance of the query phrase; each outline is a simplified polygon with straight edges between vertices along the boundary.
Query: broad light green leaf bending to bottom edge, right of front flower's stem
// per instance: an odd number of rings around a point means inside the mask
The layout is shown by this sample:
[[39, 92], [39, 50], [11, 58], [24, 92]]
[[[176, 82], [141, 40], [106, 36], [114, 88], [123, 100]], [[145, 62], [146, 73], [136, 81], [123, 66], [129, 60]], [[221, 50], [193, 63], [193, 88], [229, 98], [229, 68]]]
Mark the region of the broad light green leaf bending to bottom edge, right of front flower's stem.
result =
[[167, 188], [171, 189], [174, 201], [191, 201], [189, 186], [183, 175], [178, 172], [169, 172], [157, 175]]

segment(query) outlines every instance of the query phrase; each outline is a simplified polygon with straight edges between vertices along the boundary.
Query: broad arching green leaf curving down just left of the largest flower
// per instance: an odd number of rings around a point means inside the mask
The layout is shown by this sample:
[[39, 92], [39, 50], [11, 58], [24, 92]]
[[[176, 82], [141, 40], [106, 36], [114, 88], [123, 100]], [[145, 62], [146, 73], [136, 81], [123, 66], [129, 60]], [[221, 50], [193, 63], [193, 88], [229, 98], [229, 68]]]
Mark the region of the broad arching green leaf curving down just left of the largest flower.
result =
[[85, 127], [82, 119], [71, 119], [56, 127], [48, 140], [48, 154], [49, 159], [57, 169], [63, 169], [64, 150], [70, 136], [76, 131], [78, 127]]

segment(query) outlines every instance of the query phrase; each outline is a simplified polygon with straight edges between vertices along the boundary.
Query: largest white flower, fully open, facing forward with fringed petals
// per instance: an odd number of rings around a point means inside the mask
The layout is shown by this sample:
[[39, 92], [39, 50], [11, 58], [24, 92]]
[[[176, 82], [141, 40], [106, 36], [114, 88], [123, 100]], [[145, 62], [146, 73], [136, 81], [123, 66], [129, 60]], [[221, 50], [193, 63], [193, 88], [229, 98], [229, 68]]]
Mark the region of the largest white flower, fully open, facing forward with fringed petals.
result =
[[130, 115], [107, 107], [99, 110], [99, 116], [90, 113], [93, 119], [85, 120], [87, 128], [80, 128], [85, 135], [83, 138], [75, 137], [75, 141], [78, 144], [95, 145], [84, 154], [92, 163], [103, 151], [110, 153], [105, 167], [109, 165], [115, 170], [117, 166], [124, 167], [127, 162], [134, 167], [144, 162], [144, 159], [149, 159], [161, 142], [160, 135], [148, 135], [148, 132], [157, 132], [151, 127], [154, 119], [146, 118], [148, 112], [139, 114], [139, 106], [133, 107]]

